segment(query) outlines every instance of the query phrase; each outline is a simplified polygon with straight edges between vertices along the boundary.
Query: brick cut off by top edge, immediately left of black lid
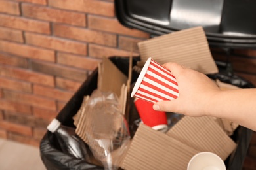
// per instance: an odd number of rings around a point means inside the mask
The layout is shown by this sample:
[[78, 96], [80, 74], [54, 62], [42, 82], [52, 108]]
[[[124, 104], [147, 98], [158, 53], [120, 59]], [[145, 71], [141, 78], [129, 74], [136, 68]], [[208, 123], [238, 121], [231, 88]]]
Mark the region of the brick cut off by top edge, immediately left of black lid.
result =
[[88, 0], [48, 1], [50, 6], [104, 16], [114, 16], [114, 3]]

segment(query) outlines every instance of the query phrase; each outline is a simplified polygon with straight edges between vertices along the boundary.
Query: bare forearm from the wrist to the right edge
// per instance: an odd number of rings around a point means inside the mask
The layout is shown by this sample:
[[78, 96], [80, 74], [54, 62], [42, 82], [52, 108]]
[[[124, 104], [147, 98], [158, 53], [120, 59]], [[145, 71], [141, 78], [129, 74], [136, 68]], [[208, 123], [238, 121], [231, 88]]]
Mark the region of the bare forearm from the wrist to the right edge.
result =
[[205, 107], [209, 116], [232, 120], [256, 131], [256, 89], [221, 91]]

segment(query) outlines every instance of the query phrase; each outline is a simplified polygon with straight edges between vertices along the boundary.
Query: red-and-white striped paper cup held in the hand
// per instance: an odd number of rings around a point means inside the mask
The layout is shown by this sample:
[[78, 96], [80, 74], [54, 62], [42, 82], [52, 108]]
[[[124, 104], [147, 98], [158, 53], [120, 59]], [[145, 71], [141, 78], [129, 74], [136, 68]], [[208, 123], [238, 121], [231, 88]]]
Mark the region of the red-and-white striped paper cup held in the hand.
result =
[[135, 83], [131, 97], [151, 103], [179, 97], [178, 84], [170, 71], [148, 58]]

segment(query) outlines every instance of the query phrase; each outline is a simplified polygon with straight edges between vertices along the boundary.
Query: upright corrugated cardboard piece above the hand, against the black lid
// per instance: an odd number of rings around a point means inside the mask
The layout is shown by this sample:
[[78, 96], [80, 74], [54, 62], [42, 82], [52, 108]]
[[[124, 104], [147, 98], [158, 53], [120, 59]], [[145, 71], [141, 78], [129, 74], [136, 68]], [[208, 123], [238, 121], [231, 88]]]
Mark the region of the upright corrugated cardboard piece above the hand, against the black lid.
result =
[[138, 43], [140, 57], [160, 64], [176, 62], [204, 74], [218, 73], [202, 27], [176, 31]]

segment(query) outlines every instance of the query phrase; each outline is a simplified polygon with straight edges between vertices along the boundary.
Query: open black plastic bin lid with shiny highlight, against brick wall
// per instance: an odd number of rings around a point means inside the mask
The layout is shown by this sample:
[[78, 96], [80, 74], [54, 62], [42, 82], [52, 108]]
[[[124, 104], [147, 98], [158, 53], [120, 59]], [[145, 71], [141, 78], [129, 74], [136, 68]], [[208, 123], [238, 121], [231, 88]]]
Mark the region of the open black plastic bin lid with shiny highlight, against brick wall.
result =
[[115, 0], [126, 27], [152, 36], [202, 26], [210, 46], [256, 48], [256, 1]]

